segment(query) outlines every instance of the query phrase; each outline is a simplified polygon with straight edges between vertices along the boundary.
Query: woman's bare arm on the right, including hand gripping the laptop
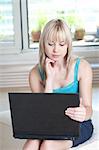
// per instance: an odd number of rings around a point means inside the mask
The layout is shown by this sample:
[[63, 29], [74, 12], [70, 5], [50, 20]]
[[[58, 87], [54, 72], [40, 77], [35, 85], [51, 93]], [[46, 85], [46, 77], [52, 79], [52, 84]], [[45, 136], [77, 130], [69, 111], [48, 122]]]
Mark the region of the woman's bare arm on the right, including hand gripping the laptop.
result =
[[68, 108], [66, 110], [66, 115], [74, 120], [82, 122], [90, 119], [92, 115], [92, 69], [85, 60], [81, 60], [78, 78], [80, 106]]

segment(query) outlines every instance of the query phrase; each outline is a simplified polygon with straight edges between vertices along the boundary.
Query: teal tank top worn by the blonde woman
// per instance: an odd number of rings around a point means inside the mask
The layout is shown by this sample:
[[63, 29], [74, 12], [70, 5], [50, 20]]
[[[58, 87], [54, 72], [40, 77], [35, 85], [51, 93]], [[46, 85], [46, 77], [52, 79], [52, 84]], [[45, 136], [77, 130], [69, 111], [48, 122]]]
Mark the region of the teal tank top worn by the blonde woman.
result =
[[[79, 92], [79, 81], [78, 81], [78, 69], [79, 69], [80, 59], [77, 58], [75, 67], [74, 67], [74, 81], [67, 86], [57, 88], [53, 90], [53, 93], [78, 93]], [[38, 67], [39, 73], [41, 76], [41, 79], [45, 79], [45, 74], [41, 70], [40, 67]]]

